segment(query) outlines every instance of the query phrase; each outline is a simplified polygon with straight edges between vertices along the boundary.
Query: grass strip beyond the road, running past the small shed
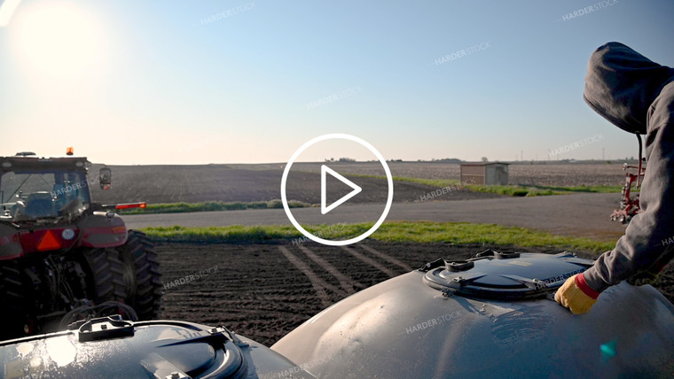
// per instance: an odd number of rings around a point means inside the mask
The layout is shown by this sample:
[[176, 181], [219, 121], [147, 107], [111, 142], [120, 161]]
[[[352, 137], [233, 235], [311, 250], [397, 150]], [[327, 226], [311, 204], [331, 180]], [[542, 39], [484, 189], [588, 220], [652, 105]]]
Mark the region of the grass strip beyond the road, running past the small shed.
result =
[[[364, 176], [370, 178], [377, 178], [386, 180], [386, 176], [379, 175], [352, 175], [352, 176]], [[620, 193], [623, 190], [622, 185], [607, 186], [607, 185], [595, 185], [595, 186], [523, 186], [523, 185], [505, 185], [505, 186], [486, 186], [486, 185], [477, 185], [477, 184], [461, 184], [461, 182], [454, 179], [422, 179], [422, 178], [410, 178], [405, 176], [394, 176], [393, 180], [396, 182], [414, 182], [419, 184], [426, 184], [432, 187], [452, 187], [452, 188], [465, 188], [466, 190], [472, 190], [474, 192], [489, 192], [499, 195], [507, 196], [516, 196], [516, 197], [525, 197], [525, 196], [547, 196], [547, 195], [568, 195], [571, 193], [577, 192], [596, 192], [596, 193]]]

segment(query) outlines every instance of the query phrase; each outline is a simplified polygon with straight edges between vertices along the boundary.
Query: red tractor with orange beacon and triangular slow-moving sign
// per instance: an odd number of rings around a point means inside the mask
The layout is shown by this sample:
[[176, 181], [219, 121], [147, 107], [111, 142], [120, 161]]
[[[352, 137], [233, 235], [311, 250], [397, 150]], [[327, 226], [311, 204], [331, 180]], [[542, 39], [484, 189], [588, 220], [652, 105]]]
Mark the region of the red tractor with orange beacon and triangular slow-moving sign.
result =
[[[72, 155], [72, 149], [68, 149]], [[86, 158], [0, 157], [0, 339], [63, 329], [87, 317], [149, 320], [162, 294], [157, 254], [127, 230], [90, 185], [110, 188], [110, 168], [87, 176]]]

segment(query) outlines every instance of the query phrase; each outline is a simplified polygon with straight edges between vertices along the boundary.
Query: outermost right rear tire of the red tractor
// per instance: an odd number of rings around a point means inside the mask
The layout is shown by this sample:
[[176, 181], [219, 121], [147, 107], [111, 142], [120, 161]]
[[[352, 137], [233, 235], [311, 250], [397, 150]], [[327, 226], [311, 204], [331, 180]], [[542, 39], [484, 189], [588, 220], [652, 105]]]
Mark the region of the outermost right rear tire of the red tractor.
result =
[[124, 303], [132, 306], [139, 320], [156, 319], [163, 294], [159, 259], [145, 233], [129, 230], [126, 244], [117, 248], [126, 287]]

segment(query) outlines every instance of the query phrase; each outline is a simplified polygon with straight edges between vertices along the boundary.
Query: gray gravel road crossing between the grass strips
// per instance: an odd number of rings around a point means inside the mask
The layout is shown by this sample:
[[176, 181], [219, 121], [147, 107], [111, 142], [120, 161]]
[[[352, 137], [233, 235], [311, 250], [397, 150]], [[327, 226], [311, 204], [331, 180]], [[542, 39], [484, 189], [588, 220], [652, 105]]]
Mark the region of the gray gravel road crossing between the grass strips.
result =
[[[615, 241], [624, 233], [619, 222], [608, 219], [619, 194], [583, 193], [546, 197], [498, 197], [456, 201], [394, 203], [387, 220], [480, 222], [537, 228], [563, 236], [584, 236]], [[331, 213], [318, 208], [295, 208], [302, 222], [331, 224], [374, 221], [383, 205], [341, 205]], [[201, 213], [159, 213], [124, 216], [129, 228], [207, 227], [228, 225], [289, 225], [283, 209]]]

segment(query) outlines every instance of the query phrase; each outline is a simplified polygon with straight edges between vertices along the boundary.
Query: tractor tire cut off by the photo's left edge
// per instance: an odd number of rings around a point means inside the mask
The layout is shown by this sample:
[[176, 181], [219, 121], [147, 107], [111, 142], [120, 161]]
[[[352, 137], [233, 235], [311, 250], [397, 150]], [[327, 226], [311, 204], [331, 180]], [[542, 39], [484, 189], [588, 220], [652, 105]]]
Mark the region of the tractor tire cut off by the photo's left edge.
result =
[[26, 336], [28, 320], [25, 287], [20, 278], [18, 261], [0, 262], [0, 314], [3, 314], [0, 340]]

